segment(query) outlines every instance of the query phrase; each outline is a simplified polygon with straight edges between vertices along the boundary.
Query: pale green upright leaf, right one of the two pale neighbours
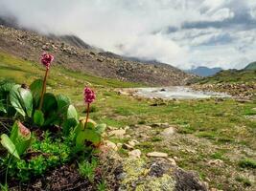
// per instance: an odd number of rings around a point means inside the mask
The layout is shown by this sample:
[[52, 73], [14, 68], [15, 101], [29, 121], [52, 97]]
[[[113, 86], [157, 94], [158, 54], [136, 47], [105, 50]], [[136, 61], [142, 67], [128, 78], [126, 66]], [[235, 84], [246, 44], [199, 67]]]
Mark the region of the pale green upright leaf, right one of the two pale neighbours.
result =
[[33, 112], [33, 96], [31, 94], [31, 91], [24, 88], [19, 88], [19, 94], [21, 96], [22, 105], [24, 106], [24, 109], [26, 110], [26, 113], [28, 117], [32, 117]]

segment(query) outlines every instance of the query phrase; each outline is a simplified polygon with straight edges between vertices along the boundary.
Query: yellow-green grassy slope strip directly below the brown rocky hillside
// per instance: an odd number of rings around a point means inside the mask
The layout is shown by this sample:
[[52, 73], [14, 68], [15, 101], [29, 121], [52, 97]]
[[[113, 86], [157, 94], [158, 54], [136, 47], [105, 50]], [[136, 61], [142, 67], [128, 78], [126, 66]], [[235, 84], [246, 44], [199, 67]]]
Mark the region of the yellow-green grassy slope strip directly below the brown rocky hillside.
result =
[[[44, 67], [39, 63], [25, 61], [8, 53], [0, 53], [0, 74], [0, 79], [10, 79], [18, 83], [31, 83], [35, 78], [43, 76]], [[113, 88], [143, 86], [142, 84], [70, 71], [61, 66], [55, 66], [55, 63], [51, 67], [48, 84], [50, 84], [52, 88], [76, 87], [84, 84]]]

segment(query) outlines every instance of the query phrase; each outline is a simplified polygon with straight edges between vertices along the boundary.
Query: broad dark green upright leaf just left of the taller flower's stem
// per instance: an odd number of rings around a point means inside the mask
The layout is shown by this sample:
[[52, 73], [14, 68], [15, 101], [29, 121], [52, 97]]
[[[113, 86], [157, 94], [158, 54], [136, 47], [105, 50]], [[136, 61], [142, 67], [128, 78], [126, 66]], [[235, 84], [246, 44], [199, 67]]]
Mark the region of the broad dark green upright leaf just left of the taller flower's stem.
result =
[[35, 101], [35, 108], [37, 108], [39, 106], [42, 88], [43, 88], [43, 80], [41, 80], [41, 79], [36, 79], [30, 85], [30, 90], [32, 92], [32, 95], [33, 95], [33, 98]]

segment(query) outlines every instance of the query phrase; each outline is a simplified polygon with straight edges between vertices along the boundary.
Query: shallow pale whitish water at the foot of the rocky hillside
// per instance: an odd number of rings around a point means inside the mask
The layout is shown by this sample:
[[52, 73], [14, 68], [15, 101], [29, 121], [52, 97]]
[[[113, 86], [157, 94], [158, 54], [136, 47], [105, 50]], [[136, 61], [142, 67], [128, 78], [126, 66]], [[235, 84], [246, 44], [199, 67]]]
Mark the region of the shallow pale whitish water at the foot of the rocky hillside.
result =
[[172, 86], [162, 88], [135, 88], [136, 96], [157, 97], [164, 99], [196, 99], [196, 98], [209, 98], [209, 97], [230, 97], [226, 94], [215, 92], [201, 92], [195, 91], [188, 87]]

